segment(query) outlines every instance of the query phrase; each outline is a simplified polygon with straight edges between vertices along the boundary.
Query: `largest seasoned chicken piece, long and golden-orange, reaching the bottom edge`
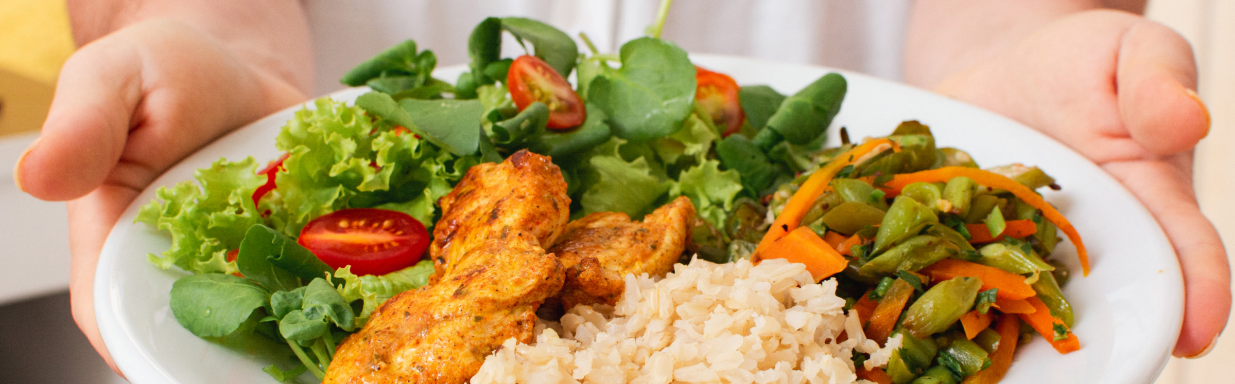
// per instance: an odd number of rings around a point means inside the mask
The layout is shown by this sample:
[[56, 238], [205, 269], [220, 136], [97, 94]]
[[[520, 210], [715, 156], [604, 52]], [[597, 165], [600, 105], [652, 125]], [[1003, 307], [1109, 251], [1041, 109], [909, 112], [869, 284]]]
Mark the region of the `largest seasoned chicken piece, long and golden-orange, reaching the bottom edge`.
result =
[[436, 282], [387, 300], [343, 340], [325, 384], [464, 383], [508, 338], [531, 342], [536, 309], [564, 279], [542, 248], [568, 217], [561, 172], [520, 151], [472, 167], [440, 204]]

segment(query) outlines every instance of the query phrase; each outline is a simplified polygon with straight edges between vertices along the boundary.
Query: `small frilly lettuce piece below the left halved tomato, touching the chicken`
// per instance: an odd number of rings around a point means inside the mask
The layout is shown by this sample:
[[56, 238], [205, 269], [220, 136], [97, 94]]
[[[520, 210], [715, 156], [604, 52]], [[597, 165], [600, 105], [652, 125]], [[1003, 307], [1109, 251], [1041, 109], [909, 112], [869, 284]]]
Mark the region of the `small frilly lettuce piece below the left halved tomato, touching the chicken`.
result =
[[343, 300], [351, 303], [364, 300], [361, 315], [357, 317], [357, 326], [363, 325], [382, 303], [394, 298], [401, 291], [412, 290], [429, 284], [429, 277], [433, 274], [433, 262], [420, 261], [415, 265], [399, 269], [383, 275], [356, 275], [352, 267], [347, 265], [335, 270], [335, 277], [343, 279], [342, 285], [335, 286]]

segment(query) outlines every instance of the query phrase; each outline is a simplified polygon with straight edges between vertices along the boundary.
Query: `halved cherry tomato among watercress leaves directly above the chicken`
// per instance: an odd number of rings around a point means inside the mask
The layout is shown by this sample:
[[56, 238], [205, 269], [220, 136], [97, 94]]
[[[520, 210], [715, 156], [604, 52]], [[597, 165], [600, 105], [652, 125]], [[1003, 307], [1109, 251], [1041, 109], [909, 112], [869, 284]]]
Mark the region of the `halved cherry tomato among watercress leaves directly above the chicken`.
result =
[[510, 100], [515, 101], [520, 111], [532, 102], [545, 102], [548, 106], [550, 128], [576, 127], [587, 119], [583, 99], [574, 93], [571, 83], [535, 56], [520, 56], [510, 64], [506, 86], [510, 88]]

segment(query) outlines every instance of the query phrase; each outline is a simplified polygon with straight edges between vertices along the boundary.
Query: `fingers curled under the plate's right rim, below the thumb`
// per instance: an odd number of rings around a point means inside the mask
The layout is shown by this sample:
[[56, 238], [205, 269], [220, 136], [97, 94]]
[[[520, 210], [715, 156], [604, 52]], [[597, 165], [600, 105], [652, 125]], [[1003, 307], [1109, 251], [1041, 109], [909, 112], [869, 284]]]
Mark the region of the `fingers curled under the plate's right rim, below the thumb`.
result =
[[[1183, 161], [1186, 158], [1186, 161]], [[1179, 258], [1184, 284], [1184, 315], [1172, 352], [1193, 357], [1207, 349], [1226, 326], [1230, 314], [1230, 267], [1213, 223], [1205, 219], [1187, 177], [1191, 154], [1176, 164], [1118, 162], [1103, 165], [1119, 179], [1158, 221]]]

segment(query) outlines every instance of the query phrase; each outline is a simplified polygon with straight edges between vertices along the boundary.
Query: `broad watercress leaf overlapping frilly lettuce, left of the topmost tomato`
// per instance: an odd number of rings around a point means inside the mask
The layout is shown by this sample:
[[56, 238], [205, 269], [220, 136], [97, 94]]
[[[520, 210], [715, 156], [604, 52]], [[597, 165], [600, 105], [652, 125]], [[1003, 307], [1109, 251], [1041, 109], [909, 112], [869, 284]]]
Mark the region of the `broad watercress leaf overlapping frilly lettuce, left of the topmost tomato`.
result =
[[443, 148], [458, 156], [475, 153], [480, 136], [475, 127], [484, 117], [484, 105], [479, 100], [415, 100], [399, 101], [421, 130], [440, 140]]

